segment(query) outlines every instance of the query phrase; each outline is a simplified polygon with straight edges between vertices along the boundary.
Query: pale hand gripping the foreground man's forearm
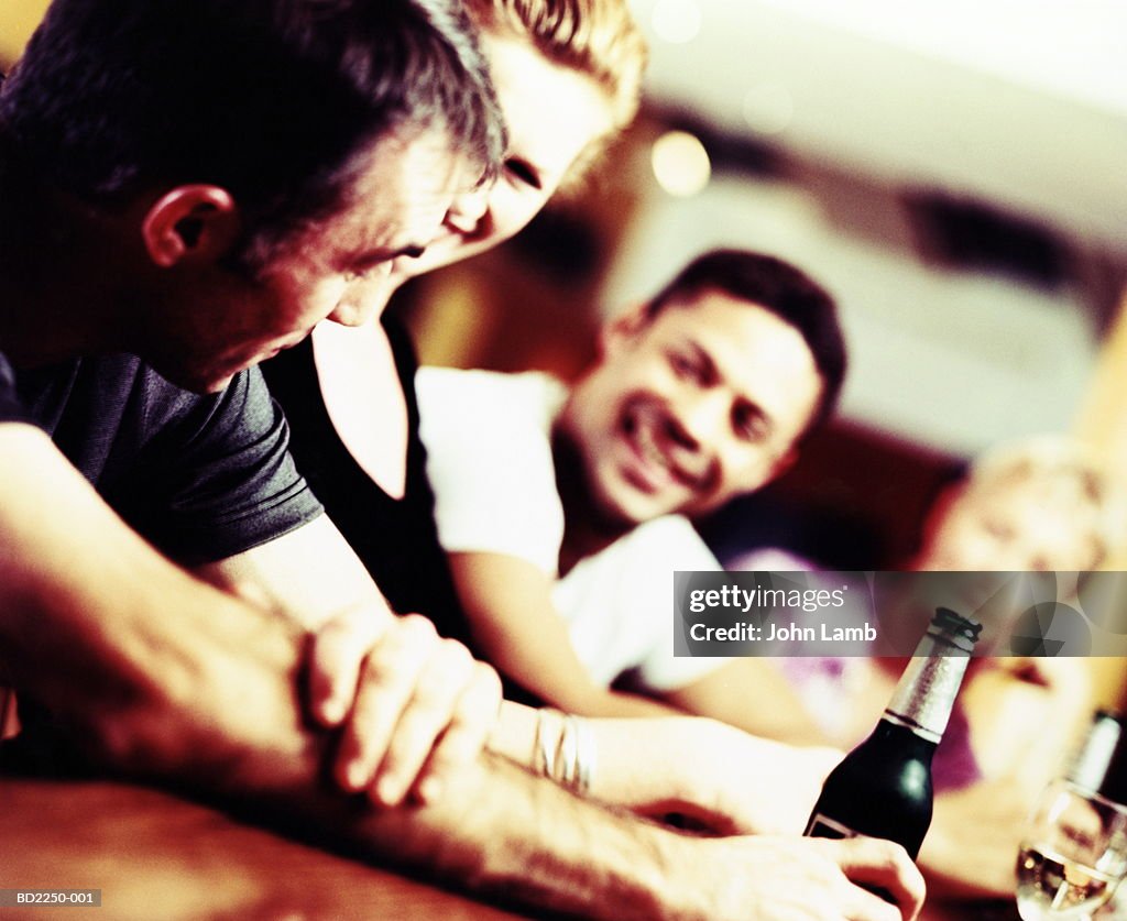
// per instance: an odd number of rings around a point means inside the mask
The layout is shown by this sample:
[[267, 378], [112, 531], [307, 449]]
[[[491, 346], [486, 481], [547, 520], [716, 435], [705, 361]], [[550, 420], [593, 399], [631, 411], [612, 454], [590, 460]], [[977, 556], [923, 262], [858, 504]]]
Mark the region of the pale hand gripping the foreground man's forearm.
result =
[[313, 634], [309, 684], [313, 716], [344, 727], [337, 781], [384, 806], [409, 791], [440, 796], [444, 774], [482, 750], [500, 706], [497, 673], [429, 620], [363, 608]]

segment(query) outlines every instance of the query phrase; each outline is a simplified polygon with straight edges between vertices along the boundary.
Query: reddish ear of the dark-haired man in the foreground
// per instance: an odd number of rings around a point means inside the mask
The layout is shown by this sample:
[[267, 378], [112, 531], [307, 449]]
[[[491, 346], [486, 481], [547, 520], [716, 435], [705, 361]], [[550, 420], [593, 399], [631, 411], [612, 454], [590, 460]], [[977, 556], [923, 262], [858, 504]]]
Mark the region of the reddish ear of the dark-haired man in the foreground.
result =
[[161, 195], [141, 221], [149, 258], [161, 268], [214, 262], [234, 245], [239, 209], [220, 186], [177, 186]]

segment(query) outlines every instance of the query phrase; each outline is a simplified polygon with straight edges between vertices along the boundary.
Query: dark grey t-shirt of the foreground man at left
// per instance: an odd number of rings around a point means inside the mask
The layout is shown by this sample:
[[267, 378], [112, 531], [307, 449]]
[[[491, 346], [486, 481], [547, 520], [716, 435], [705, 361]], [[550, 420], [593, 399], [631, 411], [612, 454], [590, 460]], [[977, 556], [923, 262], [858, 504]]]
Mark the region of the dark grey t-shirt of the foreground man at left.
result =
[[131, 526], [185, 565], [248, 550], [321, 512], [257, 370], [199, 396], [132, 355], [14, 371], [0, 353], [2, 422], [45, 429]]

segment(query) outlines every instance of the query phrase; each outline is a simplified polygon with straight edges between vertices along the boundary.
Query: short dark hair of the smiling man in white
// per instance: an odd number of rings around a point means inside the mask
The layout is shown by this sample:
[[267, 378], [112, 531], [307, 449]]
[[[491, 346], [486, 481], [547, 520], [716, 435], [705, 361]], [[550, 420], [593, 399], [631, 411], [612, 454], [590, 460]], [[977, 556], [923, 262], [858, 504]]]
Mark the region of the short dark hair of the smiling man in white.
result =
[[834, 413], [845, 381], [845, 337], [834, 299], [790, 263], [743, 249], [715, 249], [698, 256], [647, 304], [654, 316], [664, 307], [719, 291], [774, 313], [792, 326], [810, 349], [822, 378], [818, 405], [802, 437]]

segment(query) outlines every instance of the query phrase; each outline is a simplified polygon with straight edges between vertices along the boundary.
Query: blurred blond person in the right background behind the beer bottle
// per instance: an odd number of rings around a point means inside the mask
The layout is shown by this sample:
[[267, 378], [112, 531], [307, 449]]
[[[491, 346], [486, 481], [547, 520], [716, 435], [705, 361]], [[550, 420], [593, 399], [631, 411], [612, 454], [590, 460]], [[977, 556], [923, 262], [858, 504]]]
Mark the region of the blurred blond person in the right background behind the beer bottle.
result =
[[[1061, 435], [1005, 442], [935, 499], [905, 568], [1095, 569], [1115, 546], [1118, 511], [1107, 471], [1082, 445]], [[755, 555], [742, 565], [772, 568]], [[822, 741], [851, 747], [879, 718], [903, 661], [787, 659], [782, 667], [819, 717]], [[933, 893], [1012, 892], [1030, 803], [1063, 769], [1090, 709], [1082, 658], [975, 662], [933, 764], [935, 817], [920, 854]]]

